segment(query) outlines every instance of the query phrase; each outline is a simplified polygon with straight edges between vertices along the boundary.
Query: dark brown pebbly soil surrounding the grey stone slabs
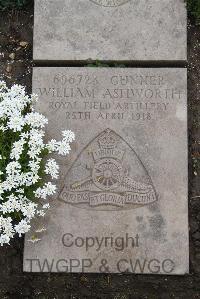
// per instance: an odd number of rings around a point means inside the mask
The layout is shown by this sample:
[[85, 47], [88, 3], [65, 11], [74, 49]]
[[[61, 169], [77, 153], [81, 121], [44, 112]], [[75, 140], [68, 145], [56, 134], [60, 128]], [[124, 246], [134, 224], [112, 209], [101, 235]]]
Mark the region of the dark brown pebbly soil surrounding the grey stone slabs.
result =
[[[31, 91], [33, 8], [1, 13], [0, 78]], [[188, 24], [190, 274], [27, 274], [24, 240], [0, 248], [0, 299], [200, 299], [200, 27]]]

